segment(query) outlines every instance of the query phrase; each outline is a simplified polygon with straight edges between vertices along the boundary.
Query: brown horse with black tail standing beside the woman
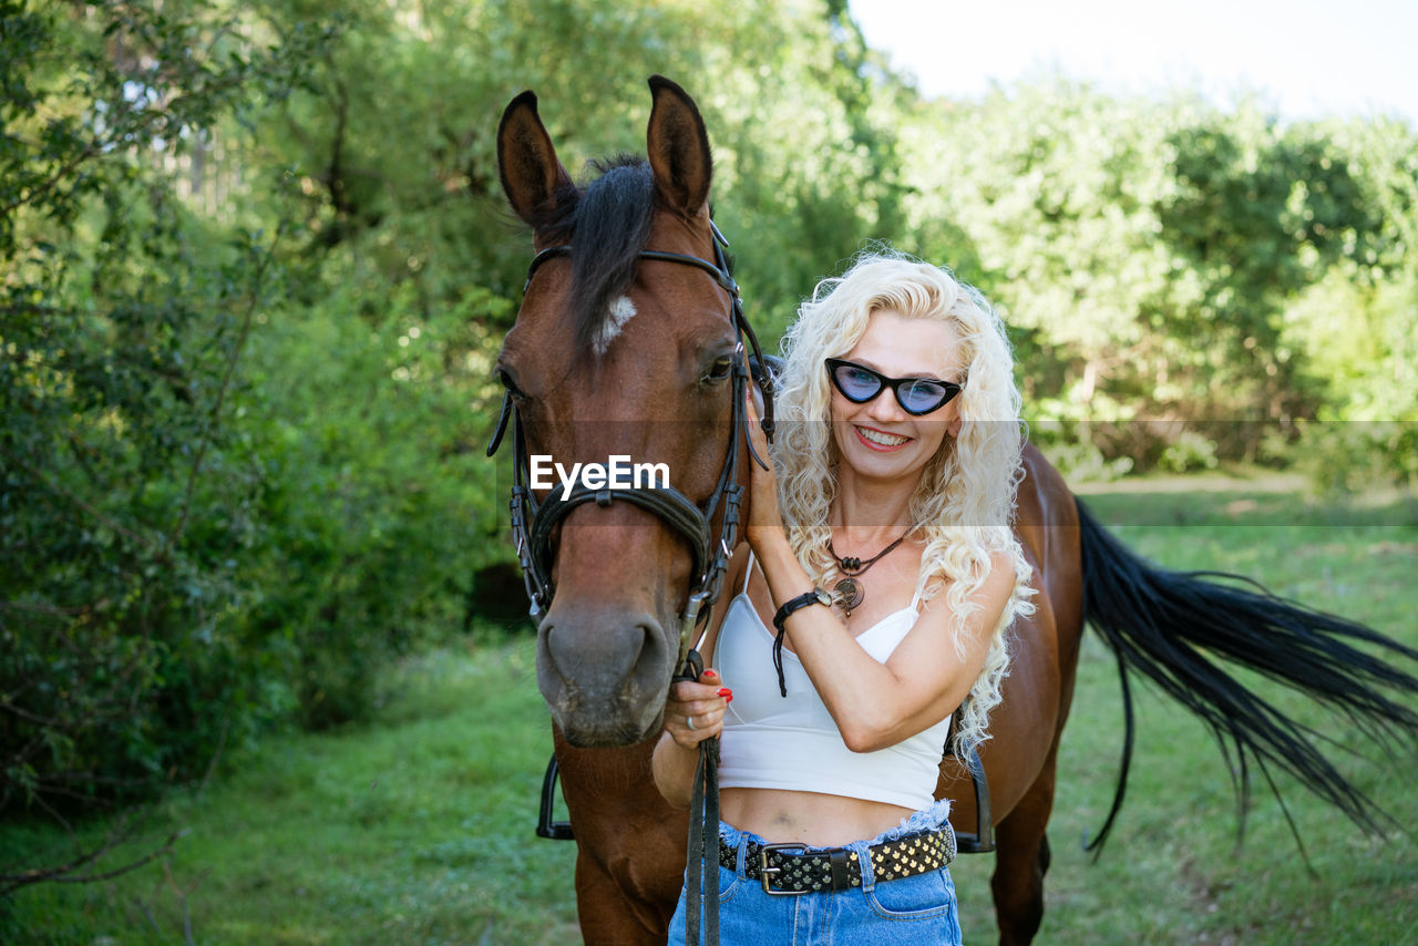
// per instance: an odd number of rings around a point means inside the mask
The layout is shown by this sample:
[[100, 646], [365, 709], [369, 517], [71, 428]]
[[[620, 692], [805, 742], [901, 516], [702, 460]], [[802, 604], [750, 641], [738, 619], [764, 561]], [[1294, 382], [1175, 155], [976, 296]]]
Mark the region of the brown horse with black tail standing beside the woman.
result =
[[[600, 165], [584, 189], [557, 162], [530, 92], [512, 101], [498, 129], [502, 184], [533, 230], [537, 257], [498, 362], [508, 399], [493, 448], [510, 414], [519, 465], [537, 455], [566, 468], [632, 457], [662, 462], [674, 479], [668, 492], [679, 494], [665, 503], [587, 484], [574, 502], [557, 505], [557, 489], [523, 491], [513, 502], [527, 587], [545, 608], [537, 679], [579, 845], [587, 943], [665, 942], [686, 820], [657, 793], [649, 755], [698, 603], [713, 604], [709, 559], [720, 556], [722, 567], [732, 543], [726, 471], [736, 481], [747, 475], [733, 464], [744, 448], [733, 407], [744, 374], [743, 326], [709, 218], [708, 136], [679, 87], [659, 77], [649, 85], [648, 163]], [[1418, 716], [1380, 691], [1414, 694], [1418, 679], [1346, 638], [1404, 660], [1418, 652], [1263, 591], [1153, 569], [1089, 518], [1034, 448], [1024, 472], [1017, 532], [1034, 566], [1038, 610], [1012, 628], [1011, 672], [983, 752], [1003, 943], [1028, 943], [1044, 913], [1045, 825], [1085, 621], [1117, 652], [1124, 684], [1129, 668], [1157, 681], [1242, 763], [1292, 772], [1368, 827], [1383, 817], [1303, 732], [1202, 651], [1404, 729], [1418, 726]], [[698, 532], [688, 522], [695, 511]], [[1098, 841], [1122, 801], [1126, 760], [1124, 750]], [[1244, 779], [1238, 787], [1245, 791]], [[976, 824], [971, 779], [953, 759], [942, 763], [937, 796], [953, 800], [957, 827]]]

